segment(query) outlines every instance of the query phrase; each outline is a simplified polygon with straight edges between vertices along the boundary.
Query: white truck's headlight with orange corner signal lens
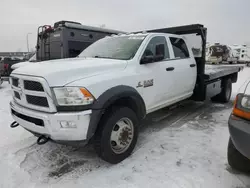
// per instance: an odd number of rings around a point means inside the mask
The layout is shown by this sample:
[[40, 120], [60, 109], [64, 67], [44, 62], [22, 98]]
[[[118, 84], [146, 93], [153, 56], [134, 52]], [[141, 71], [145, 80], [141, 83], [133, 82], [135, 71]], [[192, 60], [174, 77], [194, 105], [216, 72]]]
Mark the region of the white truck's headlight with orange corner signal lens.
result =
[[82, 106], [94, 102], [94, 97], [85, 88], [60, 87], [53, 90], [59, 106]]

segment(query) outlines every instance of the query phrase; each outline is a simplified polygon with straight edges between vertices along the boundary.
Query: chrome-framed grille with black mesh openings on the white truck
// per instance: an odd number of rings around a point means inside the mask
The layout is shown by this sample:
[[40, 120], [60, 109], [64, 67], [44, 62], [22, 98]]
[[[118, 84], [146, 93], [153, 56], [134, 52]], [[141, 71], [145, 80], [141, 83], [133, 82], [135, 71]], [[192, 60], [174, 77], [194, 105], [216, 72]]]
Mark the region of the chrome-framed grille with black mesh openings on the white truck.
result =
[[57, 111], [45, 79], [12, 74], [10, 81], [13, 98], [19, 105], [44, 112]]

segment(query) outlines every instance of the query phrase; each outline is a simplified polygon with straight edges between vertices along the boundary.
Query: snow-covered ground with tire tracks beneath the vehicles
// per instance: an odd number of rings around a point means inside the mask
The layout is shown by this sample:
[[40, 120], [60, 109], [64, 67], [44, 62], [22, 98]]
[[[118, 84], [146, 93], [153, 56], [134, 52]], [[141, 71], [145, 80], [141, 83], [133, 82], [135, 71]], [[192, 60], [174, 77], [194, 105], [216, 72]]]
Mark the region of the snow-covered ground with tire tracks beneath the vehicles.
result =
[[[250, 77], [239, 75], [234, 94]], [[137, 147], [118, 165], [101, 161], [91, 146], [47, 143], [21, 127], [10, 129], [10, 87], [0, 87], [0, 187], [250, 187], [247, 175], [227, 164], [227, 120], [232, 102], [187, 102], [169, 112], [151, 114]]]

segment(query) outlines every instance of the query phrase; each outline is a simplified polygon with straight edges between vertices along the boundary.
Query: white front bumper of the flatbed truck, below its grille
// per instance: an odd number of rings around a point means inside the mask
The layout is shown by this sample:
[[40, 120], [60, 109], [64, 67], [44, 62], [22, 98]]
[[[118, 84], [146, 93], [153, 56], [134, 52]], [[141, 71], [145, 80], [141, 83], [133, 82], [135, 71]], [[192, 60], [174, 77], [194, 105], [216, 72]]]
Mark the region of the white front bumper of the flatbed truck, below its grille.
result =
[[[54, 141], [86, 141], [91, 110], [68, 113], [45, 113], [24, 108], [10, 102], [14, 120], [23, 128], [38, 135], [45, 135]], [[75, 128], [62, 128], [61, 121], [75, 123]], [[42, 123], [41, 123], [42, 122]]]

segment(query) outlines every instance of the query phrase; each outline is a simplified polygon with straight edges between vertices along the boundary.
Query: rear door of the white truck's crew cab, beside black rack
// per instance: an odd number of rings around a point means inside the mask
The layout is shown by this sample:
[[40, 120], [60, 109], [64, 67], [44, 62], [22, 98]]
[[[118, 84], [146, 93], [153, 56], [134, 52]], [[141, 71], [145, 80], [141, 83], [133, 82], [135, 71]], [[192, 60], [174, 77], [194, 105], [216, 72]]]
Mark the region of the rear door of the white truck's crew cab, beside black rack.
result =
[[169, 37], [169, 41], [171, 43], [170, 61], [175, 67], [172, 91], [175, 93], [176, 100], [182, 100], [193, 94], [197, 76], [196, 61], [182, 38]]

